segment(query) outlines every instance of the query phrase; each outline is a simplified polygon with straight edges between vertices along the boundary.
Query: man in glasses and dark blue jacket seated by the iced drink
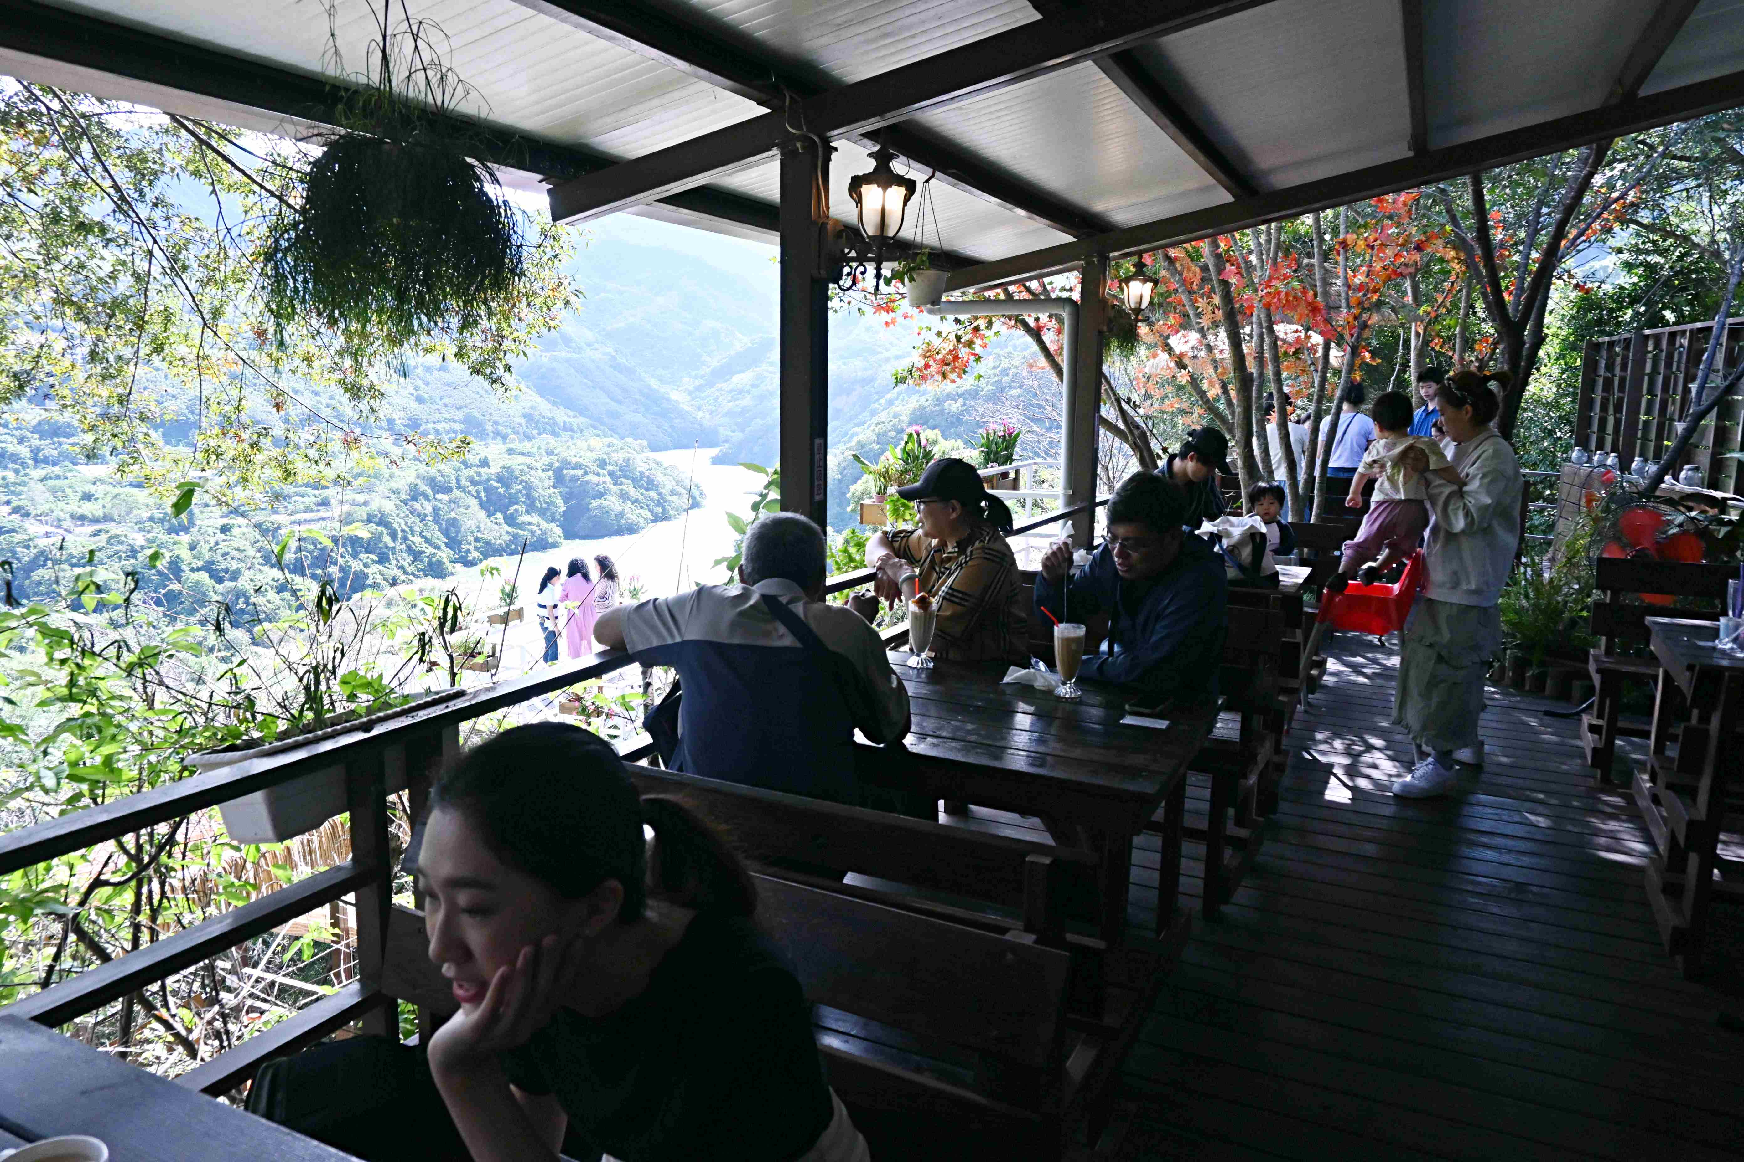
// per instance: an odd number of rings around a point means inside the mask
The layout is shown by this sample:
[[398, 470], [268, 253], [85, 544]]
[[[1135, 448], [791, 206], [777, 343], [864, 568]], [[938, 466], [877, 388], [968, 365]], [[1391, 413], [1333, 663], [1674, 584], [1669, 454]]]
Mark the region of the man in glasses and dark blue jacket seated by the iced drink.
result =
[[1107, 502], [1107, 540], [1090, 563], [1067, 580], [1073, 545], [1062, 540], [1036, 577], [1036, 608], [1055, 620], [1107, 611], [1107, 641], [1078, 672], [1125, 686], [1144, 706], [1217, 693], [1224, 564], [1216, 549], [1181, 528], [1186, 510], [1188, 498], [1170, 479], [1135, 472]]

